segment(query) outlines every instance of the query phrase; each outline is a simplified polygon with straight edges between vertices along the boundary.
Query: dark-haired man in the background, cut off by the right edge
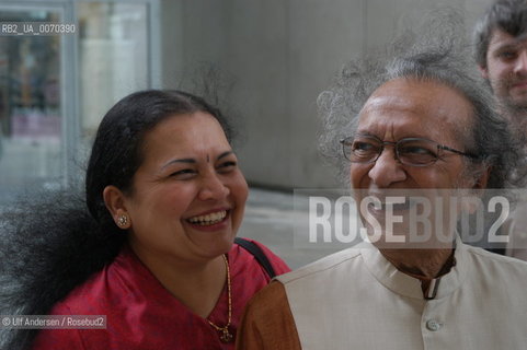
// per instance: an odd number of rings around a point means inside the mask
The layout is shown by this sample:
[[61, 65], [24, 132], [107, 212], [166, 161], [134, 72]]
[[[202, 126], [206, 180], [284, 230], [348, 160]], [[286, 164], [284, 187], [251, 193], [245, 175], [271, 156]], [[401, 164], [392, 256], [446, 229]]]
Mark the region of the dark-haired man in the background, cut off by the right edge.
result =
[[[527, 0], [497, 1], [476, 26], [476, 60], [516, 138], [527, 140]], [[527, 198], [504, 226], [506, 254], [527, 260]]]

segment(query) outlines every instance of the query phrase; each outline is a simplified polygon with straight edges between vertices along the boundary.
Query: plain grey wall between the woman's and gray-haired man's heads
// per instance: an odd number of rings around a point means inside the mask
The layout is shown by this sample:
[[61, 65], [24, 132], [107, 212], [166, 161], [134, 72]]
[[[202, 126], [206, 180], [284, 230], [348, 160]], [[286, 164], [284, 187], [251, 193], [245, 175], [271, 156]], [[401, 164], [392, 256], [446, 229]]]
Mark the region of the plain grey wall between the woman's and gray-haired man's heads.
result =
[[432, 9], [460, 9], [471, 33], [490, 3], [163, 0], [162, 83], [184, 89], [182, 77], [214, 62], [228, 77], [224, 88], [231, 88], [230, 101], [241, 116], [245, 142], [237, 151], [248, 180], [286, 189], [334, 187], [316, 142], [316, 101], [332, 75]]

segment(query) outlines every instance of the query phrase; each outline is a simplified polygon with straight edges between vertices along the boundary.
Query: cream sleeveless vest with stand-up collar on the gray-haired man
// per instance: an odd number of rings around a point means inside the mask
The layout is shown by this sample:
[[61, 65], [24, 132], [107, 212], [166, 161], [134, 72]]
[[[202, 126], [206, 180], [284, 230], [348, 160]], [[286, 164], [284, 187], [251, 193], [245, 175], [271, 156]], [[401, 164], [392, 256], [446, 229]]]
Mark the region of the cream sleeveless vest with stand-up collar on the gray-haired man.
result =
[[302, 349], [527, 349], [527, 262], [457, 244], [434, 300], [370, 244], [277, 279]]

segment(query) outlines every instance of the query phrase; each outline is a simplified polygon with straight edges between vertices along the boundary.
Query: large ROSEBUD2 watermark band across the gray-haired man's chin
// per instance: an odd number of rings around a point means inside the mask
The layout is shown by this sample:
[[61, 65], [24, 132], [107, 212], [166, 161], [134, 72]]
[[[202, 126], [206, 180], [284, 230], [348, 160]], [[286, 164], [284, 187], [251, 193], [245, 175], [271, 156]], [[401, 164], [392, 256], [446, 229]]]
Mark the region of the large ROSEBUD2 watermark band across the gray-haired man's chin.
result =
[[394, 248], [437, 248], [456, 235], [482, 247], [503, 246], [515, 197], [520, 196], [472, 189], [296, 190], [295, 210], [303, 215], [295, 246], [367, 240]]

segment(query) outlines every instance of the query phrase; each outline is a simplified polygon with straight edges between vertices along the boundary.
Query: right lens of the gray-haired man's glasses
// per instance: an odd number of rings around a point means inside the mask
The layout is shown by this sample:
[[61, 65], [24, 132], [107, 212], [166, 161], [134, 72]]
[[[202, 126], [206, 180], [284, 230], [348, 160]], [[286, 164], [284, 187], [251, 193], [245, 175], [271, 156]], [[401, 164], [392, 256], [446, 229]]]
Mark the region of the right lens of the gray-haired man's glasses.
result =
[[437, 161], [437, 143], [422, 139], [402, 139], [397, 143], [397, 154], [403, 164], [428, 165]]

